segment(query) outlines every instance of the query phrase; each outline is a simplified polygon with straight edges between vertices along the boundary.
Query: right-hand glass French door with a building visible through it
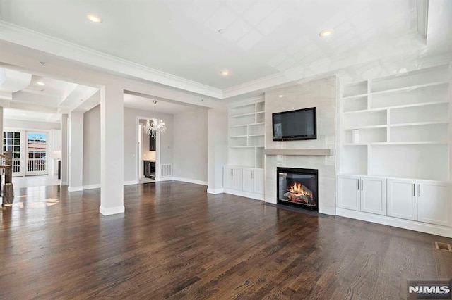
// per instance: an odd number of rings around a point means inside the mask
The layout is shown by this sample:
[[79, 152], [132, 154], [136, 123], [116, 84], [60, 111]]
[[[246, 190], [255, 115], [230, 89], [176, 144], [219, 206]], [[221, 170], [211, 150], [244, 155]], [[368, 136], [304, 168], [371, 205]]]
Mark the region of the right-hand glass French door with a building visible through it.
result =
[[25, 175], [47, 175], [47, 133], [26, 132], [27, 169]]

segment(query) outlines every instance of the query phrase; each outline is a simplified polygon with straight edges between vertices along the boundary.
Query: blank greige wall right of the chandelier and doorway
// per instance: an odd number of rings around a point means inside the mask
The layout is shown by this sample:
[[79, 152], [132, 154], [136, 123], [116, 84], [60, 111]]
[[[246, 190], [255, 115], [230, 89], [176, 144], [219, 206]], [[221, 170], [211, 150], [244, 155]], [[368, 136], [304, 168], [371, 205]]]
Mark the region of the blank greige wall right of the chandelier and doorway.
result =
[[191, 108], [174, 115], [173, 176], [207, 185], [207, 110]]

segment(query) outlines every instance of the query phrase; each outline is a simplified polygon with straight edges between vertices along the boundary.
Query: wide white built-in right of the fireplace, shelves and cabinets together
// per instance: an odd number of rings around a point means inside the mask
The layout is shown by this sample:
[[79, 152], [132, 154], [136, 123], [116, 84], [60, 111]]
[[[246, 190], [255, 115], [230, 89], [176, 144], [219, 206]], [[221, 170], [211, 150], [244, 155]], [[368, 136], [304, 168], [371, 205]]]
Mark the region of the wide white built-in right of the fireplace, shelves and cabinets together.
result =
[[451, 74], [341, 87], [338, 215], [452, 237]]

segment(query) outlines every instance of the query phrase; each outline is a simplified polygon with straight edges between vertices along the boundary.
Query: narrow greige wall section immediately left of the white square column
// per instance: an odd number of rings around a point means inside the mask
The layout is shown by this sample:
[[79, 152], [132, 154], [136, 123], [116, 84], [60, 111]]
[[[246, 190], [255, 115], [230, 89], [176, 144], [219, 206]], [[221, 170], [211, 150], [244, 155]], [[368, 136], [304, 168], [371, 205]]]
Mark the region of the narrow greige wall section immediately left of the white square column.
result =
[[83, 186], [100, 185], [100, 105], [83, 115]]

